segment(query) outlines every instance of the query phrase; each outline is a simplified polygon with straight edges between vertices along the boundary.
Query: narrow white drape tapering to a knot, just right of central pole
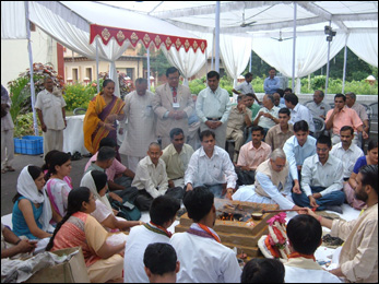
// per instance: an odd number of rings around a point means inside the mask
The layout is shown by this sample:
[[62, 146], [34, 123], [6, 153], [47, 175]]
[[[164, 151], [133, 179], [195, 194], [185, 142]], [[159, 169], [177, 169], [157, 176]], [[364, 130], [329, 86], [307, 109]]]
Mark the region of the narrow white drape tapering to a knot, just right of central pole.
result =
[[220, 51], [227, 73], [234, 79], [234, 87], [237, 78], [249, 63], [251, 54], [251, 37], [233, 35], [220, 35]]

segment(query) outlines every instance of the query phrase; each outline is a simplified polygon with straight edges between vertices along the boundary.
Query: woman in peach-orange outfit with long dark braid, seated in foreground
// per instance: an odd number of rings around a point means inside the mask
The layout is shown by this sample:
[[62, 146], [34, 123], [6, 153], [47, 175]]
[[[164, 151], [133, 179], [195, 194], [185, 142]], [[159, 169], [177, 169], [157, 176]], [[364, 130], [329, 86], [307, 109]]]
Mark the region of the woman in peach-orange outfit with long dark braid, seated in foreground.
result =
[[82, 247], [91, 282], [104, 283], [122, 276], [125, 241], [116, 246], [107, 244], [108, 233], [90, 215], [95, 210], [95, 196], [88, 188], [71, 190], [67, 214], [46, 250]]

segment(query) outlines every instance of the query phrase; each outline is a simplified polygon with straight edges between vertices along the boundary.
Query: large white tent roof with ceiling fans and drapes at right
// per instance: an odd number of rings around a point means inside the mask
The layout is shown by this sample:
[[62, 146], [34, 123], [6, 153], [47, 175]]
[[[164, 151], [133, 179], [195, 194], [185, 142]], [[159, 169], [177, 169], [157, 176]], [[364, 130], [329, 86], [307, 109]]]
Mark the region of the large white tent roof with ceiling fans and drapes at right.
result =
[[[153, 1], [155, 7], [151, 15], [163, 19], [181, 28], [213, 38], [215, 32], [215, 1]], [[294, 29], [294, 3], [296, 13], [296, 57], [292, 63], [293, 39], [275, 40], [292, 37]], [[122, 3], [119, 3], [121, 5]], [[139, 7], [140, 5], [140, 7]], [[142, 10], [146, 2], [134, 3], [134, 10]], [[222, 1], [220, 33], [234, 39], [221, 39], [221, 55], [229, 75], [236, 75], [230, 66], [245, 70], [248, 58], [244, 52], [233, 50], [238, 42], [249, 45], [252, 50], [281, 73], [299, 79], [316, 71], [328, 61], [328, 42], [324, 26], [331, 24], [336, 36], [331, 42], [330, 58], [333, 58], [344, 46], [368, 63], [378, 67], [378, 2], [376, 1]], [[238, 37], [236, 37], [238, 36]], [[240, 39], [247, 37], [248, 39]], [[213, 43], [209, 39], [209, 46]], [[217, 47], [215, 47], [217, 48]], [[226, 62], [226, 61], [232, 61]], [[299, 81], [299, 80], [298, 80]], [[298, 86], [299, 88], [299, 86]]]

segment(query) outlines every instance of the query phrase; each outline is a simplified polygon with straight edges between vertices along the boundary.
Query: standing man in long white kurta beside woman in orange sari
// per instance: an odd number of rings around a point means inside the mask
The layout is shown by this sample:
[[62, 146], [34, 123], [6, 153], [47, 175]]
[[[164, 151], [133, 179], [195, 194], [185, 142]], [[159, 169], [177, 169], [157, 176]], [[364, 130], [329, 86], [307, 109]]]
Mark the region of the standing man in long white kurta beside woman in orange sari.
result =
[[156, 141], [153, 97], [154, 93], [147, 91], [146, 79], [142, 78], [135, 80], [135, 91], [125, 97], [128, 125], [119, 153], [128, 156], [128, 168], [134, 173], [138, 163], [146, 155], [150, 143]]

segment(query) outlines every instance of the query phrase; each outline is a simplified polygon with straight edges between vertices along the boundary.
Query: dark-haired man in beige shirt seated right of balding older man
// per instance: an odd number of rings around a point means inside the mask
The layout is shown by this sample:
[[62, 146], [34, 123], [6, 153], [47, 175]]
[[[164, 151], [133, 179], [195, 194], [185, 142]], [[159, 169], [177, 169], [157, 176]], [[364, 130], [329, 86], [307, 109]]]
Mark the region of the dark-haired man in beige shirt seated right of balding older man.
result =
[[185, 144], [185, 133], [181, 128], [174, 128], [169, 132], [171, 144], [163, 150], [162, 159], [166, 164], [168, 187], [185, 187], [185, 173], [193, 154], [193, 149]]

